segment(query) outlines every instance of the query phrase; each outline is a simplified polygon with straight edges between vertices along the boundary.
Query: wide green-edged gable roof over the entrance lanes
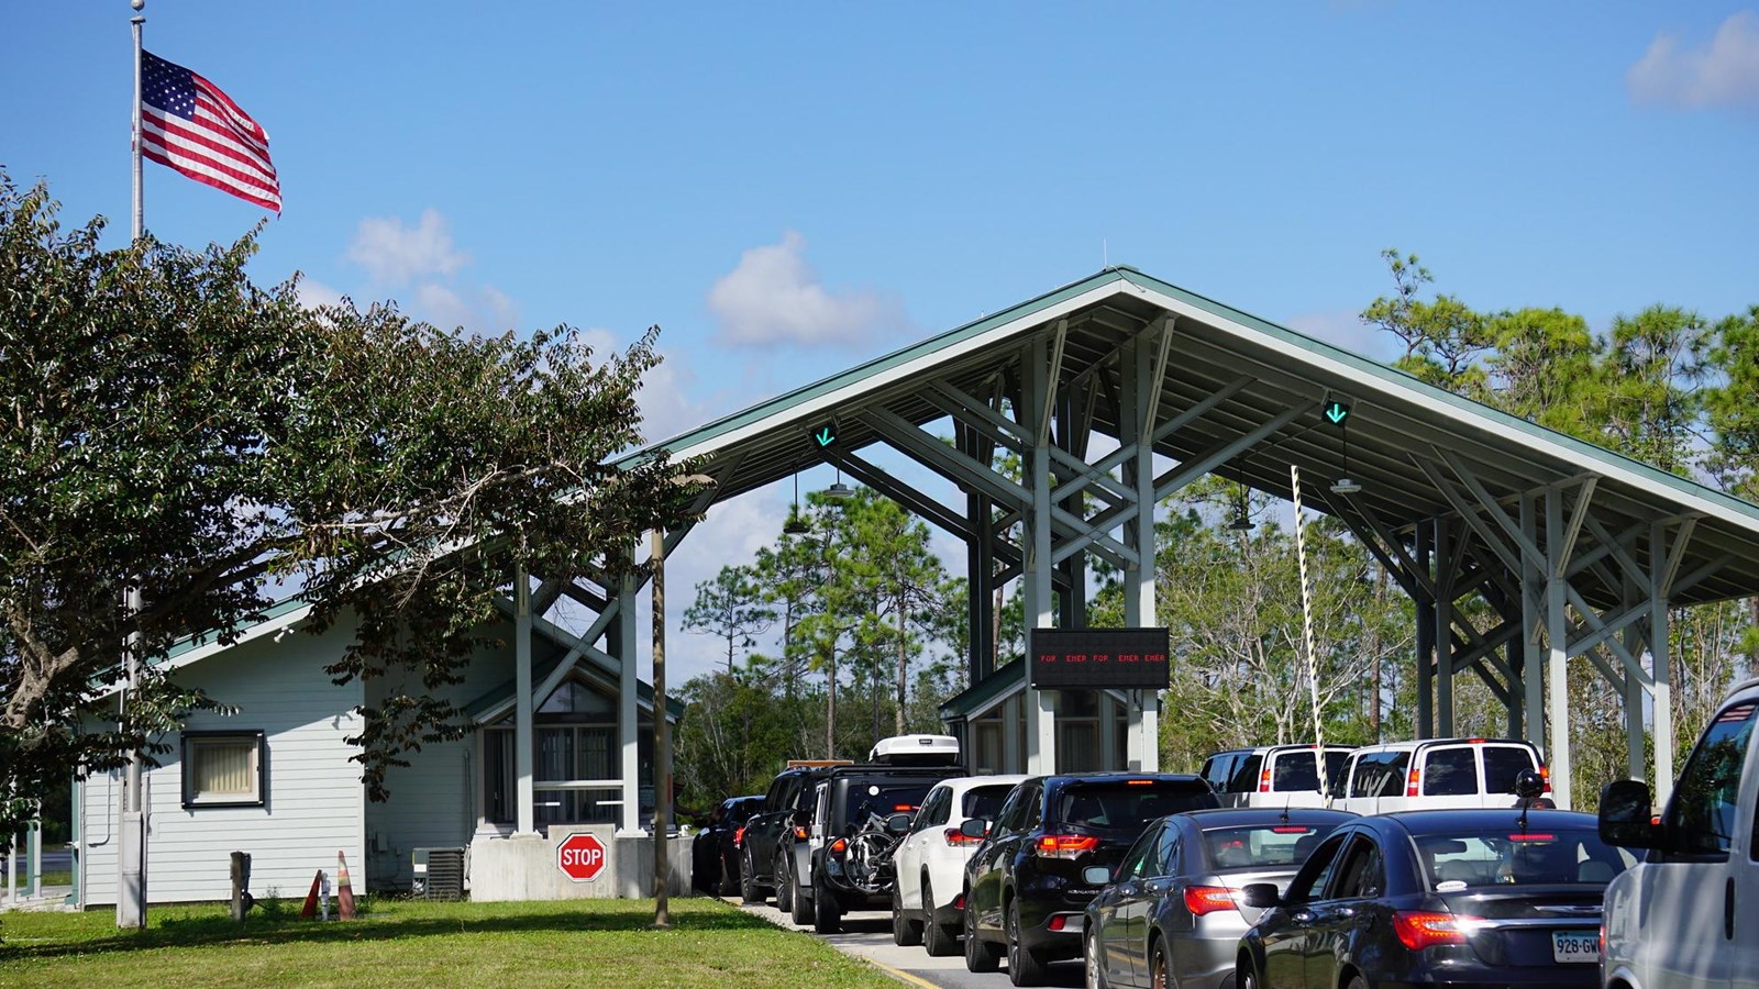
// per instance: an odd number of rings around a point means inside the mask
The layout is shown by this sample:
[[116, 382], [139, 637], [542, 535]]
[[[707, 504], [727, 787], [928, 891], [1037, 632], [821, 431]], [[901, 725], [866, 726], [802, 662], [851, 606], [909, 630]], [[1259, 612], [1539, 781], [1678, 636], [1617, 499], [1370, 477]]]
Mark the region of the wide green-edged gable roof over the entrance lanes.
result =
[[[1224, 463], [1214, 473], [1289, 498], [1289, 466], [1295, 465], [1312, 479], [1303, 486], [1307, 503], [1332, 512], [1323, 480], [1339, 475], [1342, 436], [1339, 429], [1323, 426], [1319, 407], [1326, 398], [1344, 398], [1353, 407], [1349, 473], [1363, 484], [1356, 500], [1393, 528], [1453, 514], [1451, 503], [1418, 461], [1456, 458], [1499, 500], [1592, 473], [1601, 479], [1592, 496], [1594, 516], [1613, 533], [1655, 521], [1697, 519], [1680, 572], [1715, 565], [1720, 572], [1687, 588], [1676, 602], [1759, 591], [1759, 507], [1456, 396], [1133, 267], [1105, 269], [716, 419], [626, 459], [653, 451], [705, 458], [705, 470], [719, 484], [716, 500], [726, 500], [818, 463], [809, 433], [832, 421], [837, 424], [837, 449], [858, 451], [881, 442], [867, 417], [895, 415], [915, 426], [943, 419], [946, 396], [927, 387], [929, 382], [982, 396], [999, 375], [1018, 366], [1031, 340], [1054, 333], [1059, 324], [1066, 327], [1062, 378], [1089, 375], [1110, 378], [1115, 387], [1119, 343], [1161, 319], [1170, 319], [1173, 326], [1173, 359], [1161, 382], [1156, 421], [1166, 422], [1200, 401], [1224, 396], [1205, 415], [1161, 440], [1156, 451], [1163, 456], [1193, 459], [1279, 412], [1310, 407], [1247, 456]], [[1096, 431], [1117, 436], [1115, 419], [1106, 403], [1098, 403]], [[1627, 551], [1646, 561], [1648, 540], [1634, 538]], [[1588, 598], [1595, 600], [1592, 590]]]

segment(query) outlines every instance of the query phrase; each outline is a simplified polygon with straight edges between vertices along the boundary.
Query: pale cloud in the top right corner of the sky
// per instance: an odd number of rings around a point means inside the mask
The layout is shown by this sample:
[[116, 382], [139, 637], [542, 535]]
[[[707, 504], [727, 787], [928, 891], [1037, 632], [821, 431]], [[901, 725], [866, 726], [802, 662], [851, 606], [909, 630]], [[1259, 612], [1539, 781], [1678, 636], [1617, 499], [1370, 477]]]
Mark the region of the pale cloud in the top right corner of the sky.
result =
[[1759, 107], [1759, 14], [1731, 14], [1708, 44], [1683, 46], [1675, 35], [1655, 35], [1625, 72], [1625, 84], [1638, 102]]

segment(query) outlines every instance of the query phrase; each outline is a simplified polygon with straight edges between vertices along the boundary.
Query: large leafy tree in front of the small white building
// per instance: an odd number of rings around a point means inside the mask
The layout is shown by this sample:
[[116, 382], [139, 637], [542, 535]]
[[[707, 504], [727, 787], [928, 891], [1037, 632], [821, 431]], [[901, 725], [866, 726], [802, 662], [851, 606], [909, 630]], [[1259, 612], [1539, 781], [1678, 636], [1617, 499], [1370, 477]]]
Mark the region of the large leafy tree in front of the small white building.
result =
[[[230, 642], [271, 581], [301, 588], [317, 632], [357, 619], [329, 672], [385, 685], [350, 739], [383, 799], [403, 753], [464, 730], [433, 692], [514, 561], [572, 577], [679, 521], [675, 465], [610, 463], [639, 442], [653, 333], [598, 361], [566, 327], [482, 340], [390, 306], [308, 310], [296, 282], [246, 278], [255, 236], [102, 250], [102, 229], [63, 231], [44, 187], [0, 174], [0, 794], [18, 797], [0, 834], [69, 773], [164, 751], [186, 711], [222, 706], [153, 660]], [[118, 722], [93, 686], [128, 635], [148, 662]]]

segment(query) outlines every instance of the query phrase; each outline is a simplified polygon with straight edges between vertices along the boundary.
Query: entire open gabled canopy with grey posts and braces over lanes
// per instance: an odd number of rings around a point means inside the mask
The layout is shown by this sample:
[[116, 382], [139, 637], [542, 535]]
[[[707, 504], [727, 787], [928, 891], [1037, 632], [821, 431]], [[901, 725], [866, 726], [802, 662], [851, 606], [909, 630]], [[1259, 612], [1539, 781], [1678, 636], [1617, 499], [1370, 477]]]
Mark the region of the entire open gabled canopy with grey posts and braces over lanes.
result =
[[[823, 458], [962, 540], [973, 688], [943, 711], [964, 730], [1011, 704], [1001, 769], [1013, 771], [1061, 766], [1059, 704], [1025, 683], [1025, 663], [992, 669], [994, 588], [1020, 579], [1031, 626], [1075, 628], [1089, 561], [1101, 560], [1124, 575], [1126, 623], [1152, 625], [1154, 505], [1207, 473], [1281, 498], [1291, 466], [1312, 479], [1305, 503], [1339, 517], [1416, 600], [1418, 732], [1451, 734], [1455, 678], [1481, 678], [1509, 734], [1548, 753], [1566, 808], [1569, 660], [1585, 656], [1625, 697], [1636, 776], [1648, 776], [1643, 711], [1653, 711], [1652, 778], [1666, 794], [1668, 607], [1759, 593], [1759, 507], [1129, 267], [653, 449], [712, 477], [704, 509]], [[880, 449], [957, 496], [888, 473]], [[997, 451], [1020, 458], [1020, 477], [992, 466]], [[1346, 472], [1354, 486], [1330, 486]], [[686, 535], [668, 533], [668, 549]], [[628, 685], [633, 623], [612, 618], [631, 612], [633, 593], [631, 581], [600, 598], [582, 637], [596, 649], [621, 628], [607, 648]], [[1492, 626], [1462, 614], [1467, 595], [1490, 602]], [[1101, 760], [1154, 769], [1154, 693], [1101, 700], [1117, 713], [1099, 713]]]

